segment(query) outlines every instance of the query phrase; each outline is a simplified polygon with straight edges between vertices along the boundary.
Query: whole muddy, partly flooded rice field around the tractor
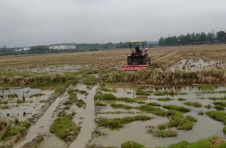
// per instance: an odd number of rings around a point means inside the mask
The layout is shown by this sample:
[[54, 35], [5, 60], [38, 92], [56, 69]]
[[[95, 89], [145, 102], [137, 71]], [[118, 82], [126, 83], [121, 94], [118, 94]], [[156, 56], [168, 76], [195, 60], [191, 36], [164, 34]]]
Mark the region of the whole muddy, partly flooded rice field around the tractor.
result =
[[224, 147], [226, 46], [0, 58], [0, 147]]

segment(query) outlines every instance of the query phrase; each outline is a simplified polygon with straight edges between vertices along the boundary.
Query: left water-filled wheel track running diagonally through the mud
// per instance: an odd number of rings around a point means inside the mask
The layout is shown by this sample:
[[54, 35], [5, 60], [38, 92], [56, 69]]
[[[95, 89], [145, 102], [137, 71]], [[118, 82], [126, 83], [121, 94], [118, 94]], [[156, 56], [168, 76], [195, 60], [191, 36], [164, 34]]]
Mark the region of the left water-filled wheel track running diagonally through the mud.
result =
[[27, 133], [24, 140], [17, 145], [17, 148], [20, 148], [25, 143], [32, 141], [39, 133], [46, 133], [49, 131], [49, 127], [53, 122], [54, 118], [53, 113], [56, 107], [59, 105], [60, 101], [66, 98], [67, 96], [59, 97], [55, 100], [55, 102], [47, 109], [44, 115], [36, 122], [35, 125], [31, 126], [29, 132]]

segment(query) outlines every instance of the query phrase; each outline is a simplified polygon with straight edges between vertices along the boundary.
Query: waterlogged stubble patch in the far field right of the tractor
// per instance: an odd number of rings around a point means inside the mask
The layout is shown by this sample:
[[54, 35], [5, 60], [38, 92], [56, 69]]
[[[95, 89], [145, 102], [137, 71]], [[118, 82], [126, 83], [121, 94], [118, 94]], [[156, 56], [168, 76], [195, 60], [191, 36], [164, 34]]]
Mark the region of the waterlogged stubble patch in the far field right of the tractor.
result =
[[170, 66], [168, 70], [175, 71], [201, 71], [201, 70], [217, 70], [225, 69], [226, 65], [223, 61], [204, 61], [202, 59], [183, 59], [178, 61], [173, 66]]

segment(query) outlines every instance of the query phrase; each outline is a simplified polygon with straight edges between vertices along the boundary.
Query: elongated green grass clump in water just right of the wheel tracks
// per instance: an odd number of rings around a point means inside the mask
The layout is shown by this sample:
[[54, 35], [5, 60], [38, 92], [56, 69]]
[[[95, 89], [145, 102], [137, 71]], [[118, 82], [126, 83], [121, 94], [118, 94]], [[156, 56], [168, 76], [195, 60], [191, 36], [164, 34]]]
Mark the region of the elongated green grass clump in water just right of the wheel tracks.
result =
[[97, 121], [97, 124], [99, 127], [106, 127], [110, 129], [119, 129], [124, 126], [124, 124], [128, 124], [134, 121], [146, 121], [152, 119], [149, 116], [145, 115], [139, 115], [134, 117], [125, 117], [125, 118], [115, 118], [115, 119], [109, 119], [109, 118], [100, 118]]

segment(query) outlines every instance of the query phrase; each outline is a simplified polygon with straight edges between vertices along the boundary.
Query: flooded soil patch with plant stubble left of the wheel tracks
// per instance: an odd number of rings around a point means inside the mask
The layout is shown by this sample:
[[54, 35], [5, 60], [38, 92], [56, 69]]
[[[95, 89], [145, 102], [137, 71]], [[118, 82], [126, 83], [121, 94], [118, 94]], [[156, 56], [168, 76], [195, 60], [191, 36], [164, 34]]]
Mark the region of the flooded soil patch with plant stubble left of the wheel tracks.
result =
[[[19, 121], [24, 121], [33, 114], [38, 113], [52, 93], [53, 91], [51, 90], [31, 88], [1, 90], [0, 116], [3, 118], [17, 117]], [[22, 103], [19, 101], [22, 101]]]

